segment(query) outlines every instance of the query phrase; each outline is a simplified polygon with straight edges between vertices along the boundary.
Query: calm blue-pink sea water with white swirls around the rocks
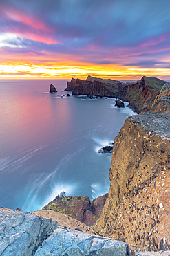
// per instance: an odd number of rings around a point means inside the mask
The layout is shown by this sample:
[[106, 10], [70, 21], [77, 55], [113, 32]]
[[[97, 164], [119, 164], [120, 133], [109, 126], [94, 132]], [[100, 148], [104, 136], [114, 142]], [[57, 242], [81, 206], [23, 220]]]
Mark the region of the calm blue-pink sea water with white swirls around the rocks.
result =
[[113, 98], [61, 98], [66, 82], [0, 80], [0, 206], [39, 210], [63, 190], [91, 200], [108, 192], [111, 154], [97, 151], [134, 113]]

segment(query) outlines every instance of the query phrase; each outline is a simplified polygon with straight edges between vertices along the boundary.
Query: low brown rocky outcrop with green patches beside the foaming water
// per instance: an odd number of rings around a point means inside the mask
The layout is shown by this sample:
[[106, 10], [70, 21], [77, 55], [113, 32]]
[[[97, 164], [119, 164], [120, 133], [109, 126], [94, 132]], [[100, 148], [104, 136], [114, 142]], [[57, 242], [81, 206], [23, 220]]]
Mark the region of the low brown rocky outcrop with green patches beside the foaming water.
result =
[[43, 207], [43, 210], [54, 210], [70, 216], [88, 226], [93, 226], [100, 218], [107, 195], [99, 196], [92, 202], [88, 196], [56, 197]]

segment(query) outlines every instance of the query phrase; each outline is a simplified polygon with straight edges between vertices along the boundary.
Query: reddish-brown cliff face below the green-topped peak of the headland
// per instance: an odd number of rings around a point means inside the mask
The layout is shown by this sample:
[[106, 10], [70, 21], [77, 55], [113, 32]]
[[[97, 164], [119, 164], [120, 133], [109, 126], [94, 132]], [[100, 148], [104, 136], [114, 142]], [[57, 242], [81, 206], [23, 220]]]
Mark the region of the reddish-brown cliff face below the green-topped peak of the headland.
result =
[[156, 96], [165, 83], [165, 81], [157, 78], [144, 76], [140, 81], [128, 84], [118, 93], [115, 93], [114, 96], [128, 101], [137, 113], [150, 111]]

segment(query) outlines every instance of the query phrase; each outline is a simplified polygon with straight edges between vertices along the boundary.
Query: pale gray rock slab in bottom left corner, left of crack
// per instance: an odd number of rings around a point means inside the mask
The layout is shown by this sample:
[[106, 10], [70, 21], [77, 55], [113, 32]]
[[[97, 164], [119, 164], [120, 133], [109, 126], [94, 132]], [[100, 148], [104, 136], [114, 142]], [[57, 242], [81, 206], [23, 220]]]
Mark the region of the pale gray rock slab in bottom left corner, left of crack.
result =
[[31, 256], [52, 234], [56, 222], [28, 212], [0, 208], [0, 255]]

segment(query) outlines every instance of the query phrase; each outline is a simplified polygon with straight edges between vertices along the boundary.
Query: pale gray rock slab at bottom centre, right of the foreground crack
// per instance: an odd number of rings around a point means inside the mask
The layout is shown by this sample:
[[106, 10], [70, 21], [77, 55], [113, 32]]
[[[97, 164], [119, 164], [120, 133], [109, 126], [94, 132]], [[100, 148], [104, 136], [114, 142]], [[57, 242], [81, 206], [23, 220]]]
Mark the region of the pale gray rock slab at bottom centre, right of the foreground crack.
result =
[[116, 239], [89, 235], [85, 232], [56, 228], [35, 256], [124, 256], [131, 255], [129, 246]]

